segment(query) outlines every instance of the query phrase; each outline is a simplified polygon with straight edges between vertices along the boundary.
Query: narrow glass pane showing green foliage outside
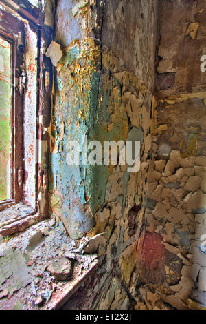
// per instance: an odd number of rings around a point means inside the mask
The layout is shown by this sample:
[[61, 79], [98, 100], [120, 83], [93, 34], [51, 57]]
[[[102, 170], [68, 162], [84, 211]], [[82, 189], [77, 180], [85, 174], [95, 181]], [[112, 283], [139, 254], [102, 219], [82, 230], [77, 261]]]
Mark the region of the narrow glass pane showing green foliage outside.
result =
[[10, 199], [11, 46], [0, 37], [0, 201]]

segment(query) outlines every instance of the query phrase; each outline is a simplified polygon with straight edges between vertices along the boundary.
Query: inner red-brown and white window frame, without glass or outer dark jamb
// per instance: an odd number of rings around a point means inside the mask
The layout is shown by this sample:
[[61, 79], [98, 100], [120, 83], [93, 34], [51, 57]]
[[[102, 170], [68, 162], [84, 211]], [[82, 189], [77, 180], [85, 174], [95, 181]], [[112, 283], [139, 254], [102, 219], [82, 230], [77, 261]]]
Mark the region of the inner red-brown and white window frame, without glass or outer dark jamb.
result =
[[[5, 91], [2, 91], [3, 95], [1, 96], [1, 101], [4, 105], [3, 109], [1, 108], [1, 115], [2, 111], [4, 111], [6, 116], [2, 115], [2, 117], [8, 119], [7, 122], [9, 124], [7, 125], [6, 132], [4, 131], [4, 143], [7, 144], [7, 154], [6, 161], [5, 158], [3, 160], [4, 186], [0, 185], [1, 190], [3, 190], [0, 204], [4, 203], [3, 199], [5, 202], [8, 199], [15, 203], [23, 201], [35, 211], [36, 161], [38, 159], [38, 152], [36, 150], [38, 28], [33, 26], [32, 23], [30, 24], [28, 21], [25, 21], [25, 19], [21, 20], [18, 16], [11, 15], [4, 8], [0, 8], [0, 14], [2, 17], [0, 21], [1, 38], [6, 43], [12, 44], [10, 46], [10, 58], [12, 61], [12, 68], [10, 68], [11, 80], [6, 80], [10, 84], [0, 81], [1, 83], [8, 84], [7, 86], [10, 88], [7, 89], [7, 92], [11, 94], [10, 98], [6, 99]], [[6, 109], [5, 102], [8, 102]], [[1, 154], [0, 159], [3, 159], [3, 154]], [[7, 168], [7, 172], [5, 172], [5, 168]], [[8, 174], [7, 177], [5, 176], [6, 174]], [[9, 186], [10, 183], [11, 185]]]

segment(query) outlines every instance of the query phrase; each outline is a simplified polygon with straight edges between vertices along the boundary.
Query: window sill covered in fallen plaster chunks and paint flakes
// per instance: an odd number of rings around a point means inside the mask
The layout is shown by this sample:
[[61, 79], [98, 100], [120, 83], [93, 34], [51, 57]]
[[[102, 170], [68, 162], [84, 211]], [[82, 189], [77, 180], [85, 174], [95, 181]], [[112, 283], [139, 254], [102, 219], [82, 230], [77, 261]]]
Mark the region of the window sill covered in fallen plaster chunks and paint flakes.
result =
[[67, 283], [75, 287], [95, 265], [96, 255], [80, 250], [86, 241], [69, 239], [64, 227], [52, 221], [1, 236], [0, 310], [49, 309], [55, 294]]

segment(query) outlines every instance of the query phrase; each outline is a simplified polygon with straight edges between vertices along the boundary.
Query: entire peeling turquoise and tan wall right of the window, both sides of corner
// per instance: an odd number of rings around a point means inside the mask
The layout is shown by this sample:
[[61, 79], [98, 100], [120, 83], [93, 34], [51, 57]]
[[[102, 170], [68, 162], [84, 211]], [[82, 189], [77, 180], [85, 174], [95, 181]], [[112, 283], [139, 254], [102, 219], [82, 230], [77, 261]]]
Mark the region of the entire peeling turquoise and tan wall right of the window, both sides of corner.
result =
[[[98, 271], [66, 309], [205, 307], [205, 12], [201, 0], [57, 3], [51, 212], [75, 239], [102, 234]], [[86, 135], [141, 141], [140, 171], [67, 165]]]

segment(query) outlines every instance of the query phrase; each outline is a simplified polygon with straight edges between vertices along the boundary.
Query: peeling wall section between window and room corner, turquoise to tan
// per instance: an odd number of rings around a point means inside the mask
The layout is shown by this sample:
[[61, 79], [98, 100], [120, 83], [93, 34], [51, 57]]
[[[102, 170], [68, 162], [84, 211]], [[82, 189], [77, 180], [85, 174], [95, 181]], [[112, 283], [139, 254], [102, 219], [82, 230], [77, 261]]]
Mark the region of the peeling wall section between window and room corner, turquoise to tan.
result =
[[[56, 9], [56, 41], [64, 55], [49, 128], [51, 211], [71, 237], [105, 232], [87, 309], [126, 310], [139, 300], [137, 243], [152, 145], [156, 19], [157, 1], [59, 0]], [[67, 165], [68, 141], [86, 134], [101, 143], [141, 141], [141, 170]]]

